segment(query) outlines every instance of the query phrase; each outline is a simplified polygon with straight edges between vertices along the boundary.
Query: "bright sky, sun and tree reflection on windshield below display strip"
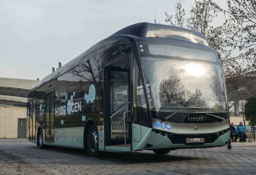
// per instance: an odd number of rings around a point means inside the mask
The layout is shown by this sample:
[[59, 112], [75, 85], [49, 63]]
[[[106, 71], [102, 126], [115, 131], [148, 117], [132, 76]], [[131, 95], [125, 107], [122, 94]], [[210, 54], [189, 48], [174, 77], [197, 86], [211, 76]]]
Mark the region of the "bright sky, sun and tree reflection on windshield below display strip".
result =
[[[141, 57], [150, 106], [193, 106], [226, 111], [221, 66], [207, 61]], [[151, 98], [148, 98], [151, 99]]]

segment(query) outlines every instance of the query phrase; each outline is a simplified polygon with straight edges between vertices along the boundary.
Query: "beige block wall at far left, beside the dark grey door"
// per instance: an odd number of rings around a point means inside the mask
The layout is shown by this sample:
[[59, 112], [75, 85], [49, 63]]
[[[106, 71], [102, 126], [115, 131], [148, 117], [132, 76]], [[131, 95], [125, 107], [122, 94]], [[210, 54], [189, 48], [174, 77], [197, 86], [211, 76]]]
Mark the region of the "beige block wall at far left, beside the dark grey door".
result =
[[26, 118], [26, 108], [0, 107], [0, 138], [17, 138], [18, 118]]

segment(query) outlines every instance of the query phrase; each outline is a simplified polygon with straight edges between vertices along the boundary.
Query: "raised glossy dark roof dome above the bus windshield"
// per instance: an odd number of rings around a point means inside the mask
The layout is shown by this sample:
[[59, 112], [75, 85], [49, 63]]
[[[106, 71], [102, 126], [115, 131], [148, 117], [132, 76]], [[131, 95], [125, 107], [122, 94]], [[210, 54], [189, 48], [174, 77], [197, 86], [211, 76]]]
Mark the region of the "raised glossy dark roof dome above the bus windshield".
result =
[[163, 25], [163, 24], [153, 24], [148, 22], [140, 22], [133, 24], [123, 29], [117, 31], [116, 33], [110, 35], [110, 37], [115, 35], [134, 35], [137, 37], [161, 37], [178, 39], [184, 41], [190, 41], [193, 43], [201, 44], [210, 47], [210, 44], [206, 37], [200, 33], [187, 28]]

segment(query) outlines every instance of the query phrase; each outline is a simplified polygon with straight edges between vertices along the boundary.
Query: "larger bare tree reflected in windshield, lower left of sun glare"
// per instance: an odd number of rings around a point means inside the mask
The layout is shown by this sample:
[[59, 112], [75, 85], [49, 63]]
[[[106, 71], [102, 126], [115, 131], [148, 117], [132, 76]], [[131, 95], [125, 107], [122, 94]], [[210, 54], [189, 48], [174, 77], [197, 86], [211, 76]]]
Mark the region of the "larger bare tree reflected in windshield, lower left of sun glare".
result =
[[163, 79], [159, 86], [160, 103], [184, 103], [184, 85], [181, 78], [171, 75], [168, 79]]

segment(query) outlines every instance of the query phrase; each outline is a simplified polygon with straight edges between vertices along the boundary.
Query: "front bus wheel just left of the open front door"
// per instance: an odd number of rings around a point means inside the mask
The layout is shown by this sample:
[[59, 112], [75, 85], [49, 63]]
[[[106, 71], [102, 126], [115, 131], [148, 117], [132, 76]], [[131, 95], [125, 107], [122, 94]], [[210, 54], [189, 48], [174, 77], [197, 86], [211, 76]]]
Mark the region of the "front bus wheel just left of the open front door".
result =
[[101, 151], [99, 151], [98, 144], [98, 132], [96, 125], [92, 124], [87, 132], [87, 150], [90, 156], [100, 157]]

